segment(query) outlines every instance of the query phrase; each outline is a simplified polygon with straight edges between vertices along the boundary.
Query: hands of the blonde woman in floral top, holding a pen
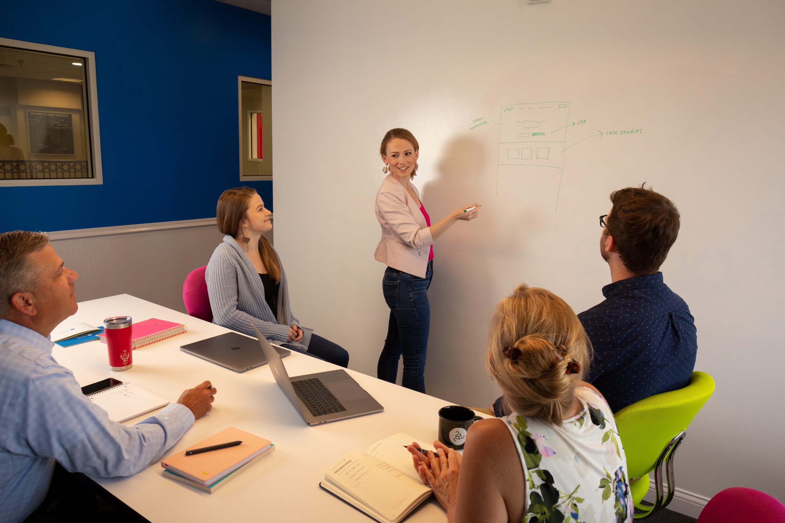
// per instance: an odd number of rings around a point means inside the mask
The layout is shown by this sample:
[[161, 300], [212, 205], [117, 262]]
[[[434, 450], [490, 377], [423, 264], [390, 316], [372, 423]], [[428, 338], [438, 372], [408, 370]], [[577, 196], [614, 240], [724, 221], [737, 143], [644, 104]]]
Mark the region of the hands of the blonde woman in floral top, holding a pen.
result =
[[441, 506], [449, 513], [455, 506], [455, 494], [458, 492], [458, 473], [461, 470], [461, 455], [455, 449], [449, 449], [440, 441], [434, 441], [436, 453], [428, 451], [427, 456], [420, 452], [420, 445], [413, 441], [407, 447], [411, 452], [414, 470], [425, 485], [433, 488], [433, 494]]

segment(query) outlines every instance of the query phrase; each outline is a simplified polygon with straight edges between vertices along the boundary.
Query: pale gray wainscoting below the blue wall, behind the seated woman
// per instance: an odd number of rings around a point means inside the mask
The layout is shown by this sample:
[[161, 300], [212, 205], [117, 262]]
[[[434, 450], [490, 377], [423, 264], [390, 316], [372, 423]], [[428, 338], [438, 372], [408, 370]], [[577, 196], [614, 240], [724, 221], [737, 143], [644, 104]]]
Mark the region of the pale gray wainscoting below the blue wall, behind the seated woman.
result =
[[185, 277], [210, 261], [222, 238], [215, 218], [49, 233], [66, 267], [79, 273], [78, 301], [128, 293], [181, 312]]

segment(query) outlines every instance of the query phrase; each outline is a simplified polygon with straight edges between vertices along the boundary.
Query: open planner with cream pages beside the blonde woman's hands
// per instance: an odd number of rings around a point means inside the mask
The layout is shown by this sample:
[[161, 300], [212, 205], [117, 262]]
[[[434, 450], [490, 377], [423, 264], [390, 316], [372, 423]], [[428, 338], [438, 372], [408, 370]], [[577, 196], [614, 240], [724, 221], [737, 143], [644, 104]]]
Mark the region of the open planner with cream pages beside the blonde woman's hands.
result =
[[319, 486], [376, 521], [397, 523], [433, 492], [414, 471], [405, 449], [412, 441], [399, 433], [377, 441], [368, 452], [349, 452], [327, 470]]

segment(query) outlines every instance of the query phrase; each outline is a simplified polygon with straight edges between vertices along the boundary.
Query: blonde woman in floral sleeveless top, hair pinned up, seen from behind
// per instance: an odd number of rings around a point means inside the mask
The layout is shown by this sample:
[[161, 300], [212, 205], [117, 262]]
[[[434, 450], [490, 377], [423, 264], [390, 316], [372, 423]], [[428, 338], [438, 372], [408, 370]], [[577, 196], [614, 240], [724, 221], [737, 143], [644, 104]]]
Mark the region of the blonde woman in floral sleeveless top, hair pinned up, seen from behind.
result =
[[613, 413], [583, 382], [586, 332], [564, 300], [519, 285], [491, 318], [486, 364], [509, 416], [474, 423], [463, 456], [410, 446], [449, 521], [633, 521]]

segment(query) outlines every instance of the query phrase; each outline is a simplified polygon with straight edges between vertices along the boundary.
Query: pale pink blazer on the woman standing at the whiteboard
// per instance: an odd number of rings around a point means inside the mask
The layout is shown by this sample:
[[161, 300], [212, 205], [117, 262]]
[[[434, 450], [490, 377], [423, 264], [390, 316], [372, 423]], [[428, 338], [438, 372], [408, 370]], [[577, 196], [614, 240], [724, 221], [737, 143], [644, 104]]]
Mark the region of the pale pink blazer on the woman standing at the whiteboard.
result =
[[[417, 187], [410, 182], [414, 194]], [[382, 240], [374, 258], [388, 267], [425, 278], [429, 247], [433, 245], [431, 229], [425, 224], [420, 208], [392, 174], [385, 176], [376, 193], [376, 219], [382, 226]]]

